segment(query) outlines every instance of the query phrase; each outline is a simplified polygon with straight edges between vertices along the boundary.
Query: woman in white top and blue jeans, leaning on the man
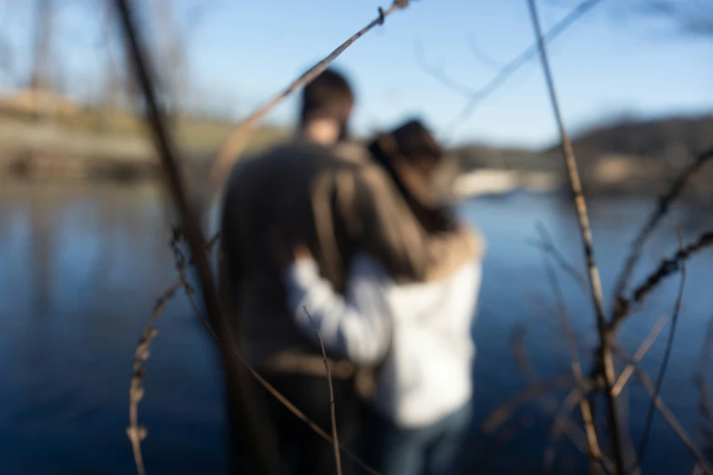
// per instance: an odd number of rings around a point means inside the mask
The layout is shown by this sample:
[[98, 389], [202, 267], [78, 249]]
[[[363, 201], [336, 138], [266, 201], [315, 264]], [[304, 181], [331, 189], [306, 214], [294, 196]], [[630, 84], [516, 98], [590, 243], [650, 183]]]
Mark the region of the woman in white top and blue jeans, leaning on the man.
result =
[[[443, 154], [420, 122], [377, 137], [369, 149], [429, 233], [462, 226], [434, 197], [430, 184]], [[320, 277], [306, 248], [294, 254], [284, 280], [300, 330], [317, 342], [318, 328], [332, 354], [378, 365], [366, 461], [383, 475], [453, 474], [471, 419], [471, 327], [483, 253], [428, 283], [394, 282], [358, 254], [343, 297]]]

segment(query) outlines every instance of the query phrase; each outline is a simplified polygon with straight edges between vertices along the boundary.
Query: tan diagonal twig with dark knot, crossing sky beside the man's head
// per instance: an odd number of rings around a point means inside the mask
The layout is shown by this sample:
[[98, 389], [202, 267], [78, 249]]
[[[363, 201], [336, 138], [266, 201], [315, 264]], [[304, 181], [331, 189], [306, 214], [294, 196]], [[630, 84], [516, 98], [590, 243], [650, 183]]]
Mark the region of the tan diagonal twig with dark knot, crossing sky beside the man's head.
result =
[[209, 171], [208, 184], [209, 190], [219, 185], [219, 182], [225, 177], [230, 164], [237, 159], [245, 147], [248, 146], [255, 126], [257, 126], [258, 123], [265, 116], [267, 116], [275, 106], [278, 106], [280, 102], [282, 102], [287, 96], [290, 96], [290, 94], [311, 83], [315, 77], [320, 76], [320, 74], [324, 72], [324, 70], [327, 69], [327, 67], [330, 66], [330, 64], [356, 40], [361, 38], [363, 35], [366, 35], [374, 26], [382, 25], [387, 16], [391, 15], [399, 8], [405, 8], [408, 5], [409, 0], [394, 0], [389, 9], [382, 10], [382, 8], [379, 8], [379, 16], [372, 20], [369, 25], [364, 26], [355, 35], [352, 35], [349, 39], [347, 39], [347, 41], [332, 51], [329, 56], [312, 66], [306, 73], [298, 77], [294, 82], [292, 82], [292, 84], [290, 84], [290, 86], [280, 92], [280, 94], [273, 97], [268, 103], [261, 106], [258, 110], [240, 122], [239, 126], [233, 129], [229, 136], [220, 145], [218, 154], [210, 164], [211, 168]]

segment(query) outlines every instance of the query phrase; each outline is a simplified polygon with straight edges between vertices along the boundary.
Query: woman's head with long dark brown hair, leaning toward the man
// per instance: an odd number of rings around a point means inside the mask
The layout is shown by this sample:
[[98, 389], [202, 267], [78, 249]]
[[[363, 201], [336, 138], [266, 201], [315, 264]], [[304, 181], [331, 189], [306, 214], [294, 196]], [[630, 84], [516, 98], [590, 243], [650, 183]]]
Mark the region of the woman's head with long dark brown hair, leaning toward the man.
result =
[[440, 232], [453, 227], [453, 220], [433, 193], [433, 174], [443, 161], [443, 150], [421, 121], [409, 120], [377, 136], [369, 150], [426, 230]]

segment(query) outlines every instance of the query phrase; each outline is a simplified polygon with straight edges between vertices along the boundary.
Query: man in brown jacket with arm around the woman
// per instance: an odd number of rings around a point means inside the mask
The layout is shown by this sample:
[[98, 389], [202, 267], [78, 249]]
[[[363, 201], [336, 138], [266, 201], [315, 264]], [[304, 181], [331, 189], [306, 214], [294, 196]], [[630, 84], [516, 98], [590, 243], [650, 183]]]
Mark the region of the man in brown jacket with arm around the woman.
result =
[[[477, 247], [465, 229], [427, 237], [381, 167], [358, 154], [338, 155], [353, 105], [351, 86], [333, 70], [306, 86], [299, 133], [234, 167], [221, 223], [242, 351], [327, 432], [331, 404], [321, 350], [293, 323], [282, 269], [272, 258], [273, 238], [306, 244], [322, 276], [340, 291], [351, 257], [360, 250], [382, 262], [394, 279], [428, 280], [448, 275]], [[331, 364], [339, 439], [353, 449], [360, 426], [357, 372], [348, 362]], [[265, 402], [280, 459], [300, 475], [333, 474], [330, 445], [270, 396]], [[349, 471], [348, 464], [344, 469]]]

